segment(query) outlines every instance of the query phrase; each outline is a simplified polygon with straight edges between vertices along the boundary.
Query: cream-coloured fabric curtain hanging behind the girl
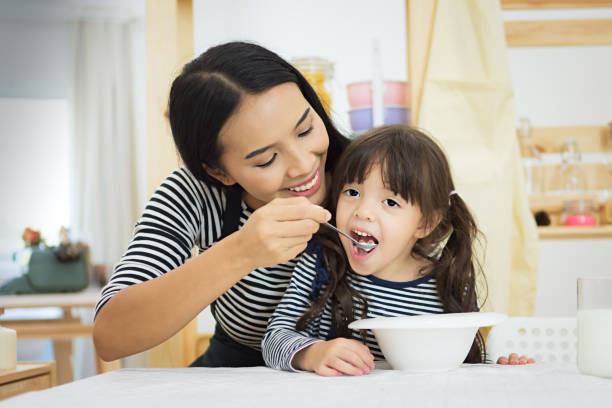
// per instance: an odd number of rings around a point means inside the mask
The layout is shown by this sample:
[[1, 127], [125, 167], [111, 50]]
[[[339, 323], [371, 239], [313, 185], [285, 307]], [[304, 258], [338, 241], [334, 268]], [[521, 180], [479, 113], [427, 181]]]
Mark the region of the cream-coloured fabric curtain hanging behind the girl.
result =
[[437, 0], [418, 125], [442, 141], [457, 191], [486, 236], [484, 310], [529, 316], [538, 236], [520, 167], [503, 27], [499, 1]]

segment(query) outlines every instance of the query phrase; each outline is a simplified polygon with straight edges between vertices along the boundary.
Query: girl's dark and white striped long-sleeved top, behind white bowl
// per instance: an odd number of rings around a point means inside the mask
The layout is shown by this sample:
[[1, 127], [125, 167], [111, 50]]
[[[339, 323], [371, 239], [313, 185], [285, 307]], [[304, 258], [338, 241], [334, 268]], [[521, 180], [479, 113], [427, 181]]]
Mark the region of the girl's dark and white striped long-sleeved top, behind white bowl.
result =
[[[349, 274], [350, 285], [368, 302], [367, 317], [392, 317], [443, 313], [436, 291], [436, 280], [431, 275], [410, 282], [391, 282], [375, 276]], [[283, 299], [268, 322], [262, 347], [266, 364], [272, 368], [297, 371], [291, 366], [295, 354], [317, 341], [336, 337], [331, 328], [331, 301], [328, 300], [321, 316], [303, 331], [295, 324], [310, 307], [312, 299], [322, 293], [327, 283], [327, 271], [319, 244], [311, 240], [293, 272], [291, 283]], [[362, 308], [355, 306], [355, 316]], [[359, 331], [353, 330], [354, 339], [361, 341]], [[377, 360], [384, 360], [376, 338], [367, 331], [366, 344]]]

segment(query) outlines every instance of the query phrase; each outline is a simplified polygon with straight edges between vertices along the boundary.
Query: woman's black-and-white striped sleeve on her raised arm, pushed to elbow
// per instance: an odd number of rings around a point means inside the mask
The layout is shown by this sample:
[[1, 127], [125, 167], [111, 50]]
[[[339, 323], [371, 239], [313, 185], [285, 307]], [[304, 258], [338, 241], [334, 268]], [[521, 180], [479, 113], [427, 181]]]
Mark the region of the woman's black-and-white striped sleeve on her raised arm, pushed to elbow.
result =
[[127, 251], [102, 289], [96, 316], [121, 289], [179, 267], [196, 244], [203, 248], [212, 245], [221, 234], [219, 219], [224, 206], [225, 196], [186, 168], [170, 174], [136, 223]]

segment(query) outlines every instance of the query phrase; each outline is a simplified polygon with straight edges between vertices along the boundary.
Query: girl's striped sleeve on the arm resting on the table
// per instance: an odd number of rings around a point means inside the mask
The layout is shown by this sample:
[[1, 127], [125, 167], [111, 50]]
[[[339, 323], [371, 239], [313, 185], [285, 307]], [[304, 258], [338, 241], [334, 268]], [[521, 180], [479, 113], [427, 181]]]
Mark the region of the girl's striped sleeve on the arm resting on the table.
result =
[[319, 337], [320, 318], [315, 319], [304, 331], [297, 331], [295, 324], [310, 307], [310, 293], [316, 277], [318, 254], [309, 250], [300, 257], [289, 287], [268, 321], [262, 340], [262, 353], [266, 365], [277, 370], [299, 371], [291, 361], [297, 352], [323, 341]]

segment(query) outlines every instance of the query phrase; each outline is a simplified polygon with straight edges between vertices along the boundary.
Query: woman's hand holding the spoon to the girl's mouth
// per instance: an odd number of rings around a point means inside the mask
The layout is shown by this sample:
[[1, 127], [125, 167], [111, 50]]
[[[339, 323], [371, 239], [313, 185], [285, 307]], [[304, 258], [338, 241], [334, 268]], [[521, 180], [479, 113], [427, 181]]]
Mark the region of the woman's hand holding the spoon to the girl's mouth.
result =
[[306, 197], [276, 198], [255, 210], [236, 234], [256, 269], [295, 258], [330, 218], [329, 211]]

